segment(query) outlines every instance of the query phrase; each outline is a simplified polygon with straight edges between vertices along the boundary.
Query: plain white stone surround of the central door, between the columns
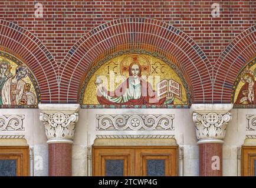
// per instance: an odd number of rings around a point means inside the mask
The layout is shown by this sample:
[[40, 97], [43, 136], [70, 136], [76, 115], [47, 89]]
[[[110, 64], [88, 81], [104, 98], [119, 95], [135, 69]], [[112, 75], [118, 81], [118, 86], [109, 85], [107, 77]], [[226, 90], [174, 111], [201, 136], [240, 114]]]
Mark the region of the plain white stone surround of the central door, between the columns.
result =
[[[96, 130], [96, 115], [175, 115], [175, 130]], [[178, 145], [184, 147], [183, 174], [198, 176], [198, 146], [196, 145], [195, 128], [189, 109], [80, 109], [76, 123], [76, 134], [73, 148], [73, 175], [87, 176], [87, 156], [84, 150], [93, 145], [96, 135], [175, 135]], [[75, 151], [76, 150], [76, 151]], [[78, 165], [79, 164], [79, 165]]]

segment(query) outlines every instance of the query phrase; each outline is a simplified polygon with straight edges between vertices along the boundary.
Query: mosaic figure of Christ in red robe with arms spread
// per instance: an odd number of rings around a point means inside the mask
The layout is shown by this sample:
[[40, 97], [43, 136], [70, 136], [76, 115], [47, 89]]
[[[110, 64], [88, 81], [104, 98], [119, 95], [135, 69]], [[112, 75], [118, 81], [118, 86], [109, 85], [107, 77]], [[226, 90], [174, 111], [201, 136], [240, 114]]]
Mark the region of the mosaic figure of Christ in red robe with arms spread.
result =
[[[136, 59], [137, 60], [137, 59]], [[97, 99], [101, 105], [170, 105], [174, 95], [169, 92], [164, 98], [157, 99], [152, 85], [142, 79], [142, 66], [133, 61], [129, 66], [129, 78], [121, 83], [114, 92], [107, 91], [97, 76]]]

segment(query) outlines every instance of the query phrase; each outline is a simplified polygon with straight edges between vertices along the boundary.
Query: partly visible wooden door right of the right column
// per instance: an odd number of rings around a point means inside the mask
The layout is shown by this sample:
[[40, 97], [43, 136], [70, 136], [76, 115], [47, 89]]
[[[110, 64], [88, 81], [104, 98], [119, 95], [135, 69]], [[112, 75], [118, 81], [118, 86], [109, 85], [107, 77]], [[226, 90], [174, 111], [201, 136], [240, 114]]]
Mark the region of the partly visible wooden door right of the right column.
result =
[[256, 146], [242, 146], [242, 176], [256, 176]]

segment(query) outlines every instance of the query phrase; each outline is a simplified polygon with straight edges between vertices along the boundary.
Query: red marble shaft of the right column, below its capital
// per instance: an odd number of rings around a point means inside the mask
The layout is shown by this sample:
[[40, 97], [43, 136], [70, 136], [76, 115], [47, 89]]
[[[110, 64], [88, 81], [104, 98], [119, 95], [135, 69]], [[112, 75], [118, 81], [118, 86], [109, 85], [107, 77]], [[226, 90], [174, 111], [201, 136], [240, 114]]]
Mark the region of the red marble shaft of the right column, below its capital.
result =
[[199, 144], [199, 176], [222, 176], [222, 143]]

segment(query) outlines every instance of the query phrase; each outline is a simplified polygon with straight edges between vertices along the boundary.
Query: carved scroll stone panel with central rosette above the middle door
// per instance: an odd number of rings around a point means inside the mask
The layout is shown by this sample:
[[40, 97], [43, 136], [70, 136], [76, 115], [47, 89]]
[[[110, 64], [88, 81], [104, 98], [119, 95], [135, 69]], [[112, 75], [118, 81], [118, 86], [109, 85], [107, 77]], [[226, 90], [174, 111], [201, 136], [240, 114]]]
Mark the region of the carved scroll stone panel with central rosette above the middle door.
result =
[[174, 115], [96, 115], [96, 130], [174, 130]]

